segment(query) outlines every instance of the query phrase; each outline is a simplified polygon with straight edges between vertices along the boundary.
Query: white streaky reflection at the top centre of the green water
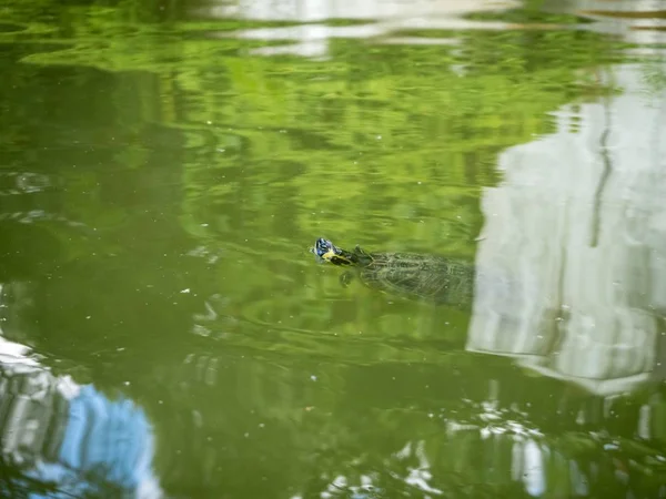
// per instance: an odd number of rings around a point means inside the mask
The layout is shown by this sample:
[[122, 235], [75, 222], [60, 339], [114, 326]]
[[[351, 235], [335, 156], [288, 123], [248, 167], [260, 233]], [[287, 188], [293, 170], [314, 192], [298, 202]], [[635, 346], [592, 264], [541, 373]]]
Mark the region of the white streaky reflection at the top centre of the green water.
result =
[[[502, 2], [503, 8], [517, 6]], [[418, 29], [506, 29], [507, 23], [471, 21], [463, 14], [497, 9], [487, 0], [239, 0], [220, 2], [201, 12], [206, 18], [235, 18], [251, 21], [291, 21], [290, 27], [255, 28], [234, 32], [220, 32], [220, 37], [254, 40], [280, 40], [284, 44], [253, 50], [262, 55], [294, 54], [306, 58], [325, 58], [331, 40], [336, 38], [373, 39], [382, 43], [455, 43], [442, 38], [394, 38], [400, 30]], [[355, 21], [350, 26], [331, 26], [325, 21], [343, 19]]]

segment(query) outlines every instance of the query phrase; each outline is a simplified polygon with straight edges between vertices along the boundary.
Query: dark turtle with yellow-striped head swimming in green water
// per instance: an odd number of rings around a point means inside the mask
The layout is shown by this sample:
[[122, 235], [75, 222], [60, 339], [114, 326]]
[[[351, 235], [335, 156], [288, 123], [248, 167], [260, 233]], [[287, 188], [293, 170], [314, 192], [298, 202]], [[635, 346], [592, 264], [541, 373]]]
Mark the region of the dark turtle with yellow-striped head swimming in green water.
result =
[[341, 276], [346, 286], [354, 276], [373, 289], [436, 304], [467, 307], [474, 293], [474, 266], [457, 259], [417, 253], [353, 252], [320, 237], [311, 248], [319, 258], [333, 265], [351, 267]]

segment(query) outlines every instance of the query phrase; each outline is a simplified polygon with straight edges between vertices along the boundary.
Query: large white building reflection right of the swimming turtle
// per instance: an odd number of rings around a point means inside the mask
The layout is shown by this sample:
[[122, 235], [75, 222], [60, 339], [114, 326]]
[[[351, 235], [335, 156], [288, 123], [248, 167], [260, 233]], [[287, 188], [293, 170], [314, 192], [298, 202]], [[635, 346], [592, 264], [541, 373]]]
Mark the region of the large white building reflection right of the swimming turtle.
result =
[[610, 78], [622, 95], [500, 156], [477, 265], [515, 285], [477, 279], [467, 343], [598, 394], [646, 380], [666, 334], [666, 94], [638, 65]]

